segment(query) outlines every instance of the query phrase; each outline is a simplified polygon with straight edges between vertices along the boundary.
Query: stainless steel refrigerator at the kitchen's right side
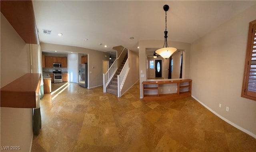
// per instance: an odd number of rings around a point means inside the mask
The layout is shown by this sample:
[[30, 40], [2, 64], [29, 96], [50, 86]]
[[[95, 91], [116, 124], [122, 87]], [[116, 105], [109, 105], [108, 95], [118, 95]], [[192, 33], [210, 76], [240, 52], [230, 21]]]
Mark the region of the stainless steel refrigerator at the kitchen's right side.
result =
[[81, 85], [84, 88], [88, 87], [88, 78], [87, 78], [87, 64], [79, 64], [78, 74], [79, 74], [79, 85]]

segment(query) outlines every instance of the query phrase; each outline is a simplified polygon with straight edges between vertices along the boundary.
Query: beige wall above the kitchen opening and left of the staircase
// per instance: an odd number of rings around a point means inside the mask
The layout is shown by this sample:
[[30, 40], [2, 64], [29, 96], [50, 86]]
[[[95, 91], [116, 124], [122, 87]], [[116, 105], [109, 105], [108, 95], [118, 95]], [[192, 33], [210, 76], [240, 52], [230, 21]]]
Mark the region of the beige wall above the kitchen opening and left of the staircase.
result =
[[[76, 53], [84, 53], [88, 54], [88, 72], [92, 72], [89, 74], [89, 86], [88, 88], [98, 87], [103, 85], [103, 69], [102, 63], [103, 60], [109, 59], [109, 53], [104, 53], [101, 51], [96, 51], [92, 49], [86, 49], [82, 47], [74, 47], [68, 45], [58, 45], [58, 44], [49, 44], [49, 43], [40, 43], [42, 50], [49, 51], [68, 51], [68, 52], [76, 52]], [[107, 55], [107, 57], [105, 57]], [[94, 69], [92, 67], [95, 67]]]

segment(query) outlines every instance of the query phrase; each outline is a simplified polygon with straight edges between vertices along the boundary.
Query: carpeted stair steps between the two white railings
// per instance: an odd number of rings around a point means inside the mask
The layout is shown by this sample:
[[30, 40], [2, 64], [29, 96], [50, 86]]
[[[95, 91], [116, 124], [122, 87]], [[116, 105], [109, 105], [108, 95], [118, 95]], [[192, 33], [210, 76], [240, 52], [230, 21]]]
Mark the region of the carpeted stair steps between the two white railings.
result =
[[114, 77], [110, 81], [110, 84], [108, 85], [108, 88], [106, 89], [107, 93], [112, 93], [114, 95], [118, 95], [118, 92], [117, 92], [117, 90], [118, 90], [118, 79], [117, 79], [117, 76], [120, 75], [120, 72], [122, 71], [127, 58], [128, 58], [128, 53], [126, 53], [126, 55], [125, 55], [121, 65], [118, 67]]

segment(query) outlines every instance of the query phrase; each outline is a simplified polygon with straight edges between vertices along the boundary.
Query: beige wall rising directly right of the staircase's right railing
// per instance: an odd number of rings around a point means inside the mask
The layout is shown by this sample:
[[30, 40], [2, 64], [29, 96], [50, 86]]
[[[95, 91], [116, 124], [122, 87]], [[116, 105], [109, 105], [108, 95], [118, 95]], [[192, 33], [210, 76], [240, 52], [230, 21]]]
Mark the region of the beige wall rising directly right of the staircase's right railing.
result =
[[128, 50], [128, 57], [129, 57], [129, 73], [126, 77], [124, 86], [121, 91], [121, 95], [123, 95], [134, 83], [136, 83], [139, 78], [139, 56], [138, 53]]

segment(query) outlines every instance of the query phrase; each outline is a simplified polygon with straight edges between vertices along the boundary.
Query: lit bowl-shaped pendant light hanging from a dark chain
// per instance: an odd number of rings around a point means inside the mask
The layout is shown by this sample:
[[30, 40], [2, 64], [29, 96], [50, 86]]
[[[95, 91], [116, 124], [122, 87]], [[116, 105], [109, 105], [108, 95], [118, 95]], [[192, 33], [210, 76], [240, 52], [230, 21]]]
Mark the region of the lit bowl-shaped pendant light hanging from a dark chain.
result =
[[161, 55], [161, 57], [167, 59], [169, 58], [175, 51], [177, 51], [176, 48], [174, 47], [168, 47], [168, 43], [167, 43], [167, 33], [168, 31], [166, 31], [167, 29], [167, 11], [169, 10], [169, 6], [168, 5], [164, 5], [164, 11], [165, 11], [165, 31], [164, 31], [164, 46], [162, 49], [158, 49], [156, 50], [156, 53], [158, 53], [159, 55]]

